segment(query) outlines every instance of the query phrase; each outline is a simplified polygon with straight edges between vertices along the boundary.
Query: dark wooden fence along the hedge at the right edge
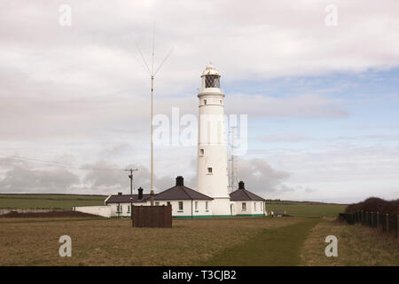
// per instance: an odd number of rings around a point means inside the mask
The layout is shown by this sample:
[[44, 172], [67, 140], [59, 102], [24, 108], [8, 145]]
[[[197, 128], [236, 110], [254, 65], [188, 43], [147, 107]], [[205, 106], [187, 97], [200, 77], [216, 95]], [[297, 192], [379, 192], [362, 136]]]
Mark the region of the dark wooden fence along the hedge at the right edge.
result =
[[391, 233], [395, 235], [399, 241], [399, 215], [359, 211], [356, 213], [340, 213], [338, 220], [346, 221], [349, 225], [355, 225], [356, 223], [359, 223], [379, 229], [383, 232]]

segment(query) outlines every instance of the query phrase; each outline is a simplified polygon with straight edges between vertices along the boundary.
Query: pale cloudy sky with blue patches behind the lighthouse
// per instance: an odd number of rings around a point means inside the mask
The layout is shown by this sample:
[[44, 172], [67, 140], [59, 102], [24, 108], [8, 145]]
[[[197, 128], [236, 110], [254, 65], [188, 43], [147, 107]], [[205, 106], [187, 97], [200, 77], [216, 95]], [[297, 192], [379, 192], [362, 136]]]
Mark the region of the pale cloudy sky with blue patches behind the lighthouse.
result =
[[[197, 116], [201, 72], [221, 73], [225, 113], [247, 115], [248, 190], [397, 199], [398, 14], [396, 0], [2, 1], [0, 193], [129, 193], [129, 167], [148, 192], [154, 43], [155, 69], [171, 51], [154, 114]], [[196, 154], [155, 146], [156, 192], [180, 175], [195, 189]]]

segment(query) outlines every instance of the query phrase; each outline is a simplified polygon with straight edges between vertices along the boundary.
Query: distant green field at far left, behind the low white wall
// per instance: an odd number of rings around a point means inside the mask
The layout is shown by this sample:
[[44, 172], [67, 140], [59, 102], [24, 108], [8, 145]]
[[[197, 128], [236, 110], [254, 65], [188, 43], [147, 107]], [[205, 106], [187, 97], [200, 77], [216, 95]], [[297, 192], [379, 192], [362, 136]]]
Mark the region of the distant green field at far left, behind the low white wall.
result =
[[106, 196], [74, 194], [0, 194], [0, 208], [58, 208], [103, 205]]

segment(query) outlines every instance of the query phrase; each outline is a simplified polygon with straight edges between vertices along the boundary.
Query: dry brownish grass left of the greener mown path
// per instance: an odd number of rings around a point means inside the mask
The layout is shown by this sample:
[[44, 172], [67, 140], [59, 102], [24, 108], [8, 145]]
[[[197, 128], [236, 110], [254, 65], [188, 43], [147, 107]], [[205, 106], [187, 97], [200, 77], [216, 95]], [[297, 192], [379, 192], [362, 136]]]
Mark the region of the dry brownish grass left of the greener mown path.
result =
[[[69, 221], [69, 222], [66, 222]], [[129, 220], [3, 219], [0, 265], [195, 265], [263, 229], [299, 218], [174, 220], [173, 228], [132, 228]], [[59, 237], [72, 257], [59, 256]]]

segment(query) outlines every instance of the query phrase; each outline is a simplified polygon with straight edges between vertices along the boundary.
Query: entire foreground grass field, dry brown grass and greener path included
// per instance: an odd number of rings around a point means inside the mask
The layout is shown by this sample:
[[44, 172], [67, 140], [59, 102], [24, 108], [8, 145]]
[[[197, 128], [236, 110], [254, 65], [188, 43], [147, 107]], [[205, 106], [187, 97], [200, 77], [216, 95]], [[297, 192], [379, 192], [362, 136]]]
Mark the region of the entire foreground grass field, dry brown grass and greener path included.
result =
[[[393, 238], [320, 218], [176, 219], [132, 228], [104, 218], [0, 219], [0, 265], [398, 265]], [[59, 237], [72, 257], [59, 256]], [[325, 256], [325, 236], [339, 256]]]

